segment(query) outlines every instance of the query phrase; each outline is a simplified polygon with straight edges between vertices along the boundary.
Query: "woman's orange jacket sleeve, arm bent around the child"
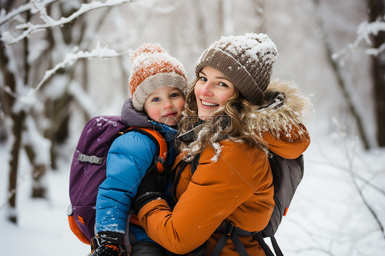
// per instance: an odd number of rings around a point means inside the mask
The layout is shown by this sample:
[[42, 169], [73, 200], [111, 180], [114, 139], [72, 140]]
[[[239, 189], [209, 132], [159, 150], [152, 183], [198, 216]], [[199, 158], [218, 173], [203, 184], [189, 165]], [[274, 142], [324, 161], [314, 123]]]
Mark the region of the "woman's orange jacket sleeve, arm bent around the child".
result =
[[[140, 209], [140, 225], [151, 239], [173, 253], [185, 254], [206, 242], [225, 218], [258, 192], [260, 186], [265, 188], [265, 183], [272, 181], [264, 182], [263, 175], [256, 179], [258, 174], [251, 171], [248, 154], [240, 146], [221, 142], [221, 147], [217, 162], [211, 160], [212, 149], [201, 153], [197, 170], [173, 212], [164, 200], [151, 201]], [[253, 170], [266, 172], [266, 154], [260, 151], [259, 155], [259, 161], [252, 163]], [[269, 217], [263, 216], [266, 223]]]

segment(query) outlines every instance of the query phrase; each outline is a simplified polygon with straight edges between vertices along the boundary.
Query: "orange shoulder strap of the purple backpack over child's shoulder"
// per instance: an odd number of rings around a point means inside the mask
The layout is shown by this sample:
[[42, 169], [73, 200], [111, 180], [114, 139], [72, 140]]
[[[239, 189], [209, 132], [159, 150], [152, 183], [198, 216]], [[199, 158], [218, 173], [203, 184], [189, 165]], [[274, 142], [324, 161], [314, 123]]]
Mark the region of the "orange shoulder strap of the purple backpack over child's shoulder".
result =
[[127, 133], [128, 131], [138, 131], [139, 133], [145, 134], [156, 143], [156, 168], [158, 169], [158, 172], [163, 172], [164, 164], [166, 164], [167, 158], [167, 143], [166, 140], [164, 140], [162, 134], [159, 131], [155, 131], [154, 129], [143, 127], [129, 127], [125, 131], [122, 131], [121, 134]]

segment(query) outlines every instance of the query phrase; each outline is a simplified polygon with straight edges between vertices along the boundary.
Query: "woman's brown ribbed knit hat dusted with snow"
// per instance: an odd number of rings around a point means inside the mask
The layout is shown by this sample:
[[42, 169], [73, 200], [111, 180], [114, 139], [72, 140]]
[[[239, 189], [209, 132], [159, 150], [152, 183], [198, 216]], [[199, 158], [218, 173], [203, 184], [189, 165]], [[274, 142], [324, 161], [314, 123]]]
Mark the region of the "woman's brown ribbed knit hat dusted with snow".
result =
[[222, 36], [203, 51], [195, 66], [195, 73], [204, 66], [221, 71], [255, 105], [260, 105], [269, 86], [277, 47], [265, 34]]

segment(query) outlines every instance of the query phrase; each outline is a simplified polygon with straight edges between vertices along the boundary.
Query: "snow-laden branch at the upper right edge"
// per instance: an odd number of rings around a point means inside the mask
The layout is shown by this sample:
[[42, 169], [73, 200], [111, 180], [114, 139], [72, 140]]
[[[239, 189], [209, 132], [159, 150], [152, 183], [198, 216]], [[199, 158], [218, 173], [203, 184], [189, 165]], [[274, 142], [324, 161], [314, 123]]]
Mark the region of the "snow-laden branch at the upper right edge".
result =
[[[385, 16], [384, 16], [385, 19]], [[352, 51], [358, 49], [358, 46], [362, 41], [366, 42], [369, 48], [365, 49], [365, 53], [367, 55], [378, 55], [380, 52], [385, 50], [385, 42], [377, 48], [371, 48], [371, 36], [377, 36], [378, 32], [385, 31], [385, 21], [374, 21], [372, 23], [368, 23], [367, 21], [363, 21], [360, 23], [357, 29], [357, 38], [353, 43], [349, 44], [345, 49], [338, 51], [332, 55], [334, 60], [340, 59], [346, 55], [349, 55]]]

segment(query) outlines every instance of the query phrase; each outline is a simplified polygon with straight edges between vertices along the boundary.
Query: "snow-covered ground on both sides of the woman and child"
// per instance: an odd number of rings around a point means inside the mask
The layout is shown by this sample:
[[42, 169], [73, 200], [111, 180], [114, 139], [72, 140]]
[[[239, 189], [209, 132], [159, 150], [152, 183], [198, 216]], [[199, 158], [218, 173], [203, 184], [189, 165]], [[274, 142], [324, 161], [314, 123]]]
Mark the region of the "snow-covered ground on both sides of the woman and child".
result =
[[[306, 151], [305, 177], [276, 235], [285, 255], [384, 255], [384, 234], [353, 185], [350, 170], [371, 181], [358, 180], [358, 187], [385, 223], [385, 151], [364, 153], [354, 145], [338, 135], [313, 137]], [[6, 166], [6, 155], [4, 146], [0, 146], [1, 166]], [[75, 238], [66, 219], [69, 162], [62, 162], [60, 170], [47, 175], [48, 200], [29, 199], [31, 180], [22, 163], [18, 225], [4, 218], [8, 181], [5, 169], [0, 170], [0, 254], [87, 255], [89, 246]], [[378, 188], [373, 188], [372, 183]]]

